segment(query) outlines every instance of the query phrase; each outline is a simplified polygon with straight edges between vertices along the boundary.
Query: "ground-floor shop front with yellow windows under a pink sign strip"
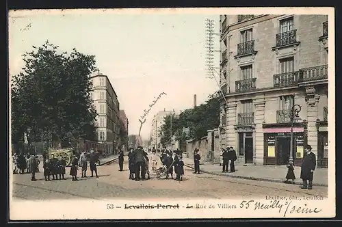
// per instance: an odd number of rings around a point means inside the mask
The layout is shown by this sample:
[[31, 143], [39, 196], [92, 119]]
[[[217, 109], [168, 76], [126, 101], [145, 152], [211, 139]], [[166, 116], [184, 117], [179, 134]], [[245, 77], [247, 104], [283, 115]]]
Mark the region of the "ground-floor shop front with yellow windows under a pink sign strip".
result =
[[[287, 165], [291, 151], [291, 127], [264, 128], [264, 165]], [[300, 166], [304, 155], [304, 127], [293, 127], [294, 165]]]

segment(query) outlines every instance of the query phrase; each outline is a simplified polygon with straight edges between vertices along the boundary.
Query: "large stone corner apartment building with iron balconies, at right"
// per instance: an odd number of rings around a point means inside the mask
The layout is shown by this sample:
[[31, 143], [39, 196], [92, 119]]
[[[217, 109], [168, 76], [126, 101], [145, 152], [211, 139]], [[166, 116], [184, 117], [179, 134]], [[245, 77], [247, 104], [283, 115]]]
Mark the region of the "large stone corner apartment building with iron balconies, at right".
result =
[[241, 162], [285, 165], [292, 126], [295, 165], [310, 144], [327, 167], [328, 16], [221, 15], [220, 36], [220, 146]]

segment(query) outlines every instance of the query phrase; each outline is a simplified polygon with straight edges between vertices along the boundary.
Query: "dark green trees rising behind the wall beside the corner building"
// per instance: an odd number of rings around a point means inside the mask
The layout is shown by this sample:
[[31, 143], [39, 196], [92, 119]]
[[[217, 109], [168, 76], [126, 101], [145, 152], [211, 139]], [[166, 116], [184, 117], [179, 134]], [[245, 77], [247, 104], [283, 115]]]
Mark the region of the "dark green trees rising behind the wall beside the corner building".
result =
[[[171, 141], [171, 136], [175, 136], [183, 146], [187, 139], [200, 139], [207, 135], [207, 130], [217, 128], [220, 124], [219, 98], [220, 94], [215, 92], [209, 96], [209, 100], [205, 104], [182, 111], [179, 118], [176, 118], [174, 114], [166, 116], [159, 132], [161, 144], [168, 144]], [[190, 132], [184, 133], [183, 128], [189, 128]]]

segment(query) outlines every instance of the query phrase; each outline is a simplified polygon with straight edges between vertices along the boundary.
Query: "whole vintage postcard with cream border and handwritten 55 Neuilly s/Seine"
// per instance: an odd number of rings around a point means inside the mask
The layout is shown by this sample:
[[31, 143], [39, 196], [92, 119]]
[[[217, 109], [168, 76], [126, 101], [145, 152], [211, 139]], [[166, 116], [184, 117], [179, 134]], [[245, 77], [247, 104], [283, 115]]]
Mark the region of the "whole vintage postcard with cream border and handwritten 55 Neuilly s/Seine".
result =
[[12, 10], [8, 31], [10, 220], [335, 216], [333, 8]]

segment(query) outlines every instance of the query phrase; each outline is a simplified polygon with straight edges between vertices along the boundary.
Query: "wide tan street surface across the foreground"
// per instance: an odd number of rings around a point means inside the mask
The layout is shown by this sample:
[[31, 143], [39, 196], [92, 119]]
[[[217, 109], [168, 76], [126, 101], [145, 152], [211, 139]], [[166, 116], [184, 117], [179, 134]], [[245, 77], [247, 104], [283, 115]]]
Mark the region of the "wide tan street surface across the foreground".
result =
[[[185, 168], [183, 182], [172, 179], [157, 179], [151, 174], [148, 181], [131, 181], [127, 161], [124, 171], [118, 171], [118, 163], [98, 167], [99, 178], [79, 178], [71, 181], [66, 169], [67, 180], [49, 181], [38, 173], [38, 181], [31, 182], [29, 174], [14, 174], [13, 197], [22, 200], [47, 199], [101, 199], [101, 198], [248, 198], [265, 196], [324, 196], [328, 187], [300, 189], [298, 185], [251, 181], [227, 178], [210, 174], [193, 174]], [[89, 176], [88, 170], [88, 176]]]

